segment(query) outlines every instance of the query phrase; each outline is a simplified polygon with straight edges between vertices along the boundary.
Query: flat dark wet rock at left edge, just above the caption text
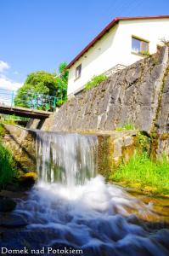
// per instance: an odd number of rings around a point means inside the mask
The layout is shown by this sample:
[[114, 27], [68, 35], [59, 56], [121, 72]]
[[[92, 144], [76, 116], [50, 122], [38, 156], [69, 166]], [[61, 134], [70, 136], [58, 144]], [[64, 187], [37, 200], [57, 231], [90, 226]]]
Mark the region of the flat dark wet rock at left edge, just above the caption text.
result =
[[27, 224], [28, 219], [16, 213], [3, 214], [0, 218], [0, 226], [6, 228], [17, 228], [21, 226], [26, 226]]

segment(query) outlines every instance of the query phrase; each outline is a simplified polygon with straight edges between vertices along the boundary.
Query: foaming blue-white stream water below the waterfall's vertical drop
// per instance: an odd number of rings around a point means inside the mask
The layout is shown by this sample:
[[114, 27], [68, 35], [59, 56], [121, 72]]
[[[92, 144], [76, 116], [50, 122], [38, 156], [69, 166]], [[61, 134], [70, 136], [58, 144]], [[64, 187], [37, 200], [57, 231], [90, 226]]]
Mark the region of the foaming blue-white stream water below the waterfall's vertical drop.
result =
[[[104, 183], [101, 176], [69, 188], [37, 183], [16, 201], [13, 217], [20, 221], [15, 226], [3, 225], [1, 247], [26, 247], [30, 254], [32, 249], [43, 250], [44, 255], [65, 248], [85, 256], [169, 254], [166, 213], [158, 214], [155, 201], [144, 202], [119, 186]], [[53, 251], [48, 252], [49, 247]]]

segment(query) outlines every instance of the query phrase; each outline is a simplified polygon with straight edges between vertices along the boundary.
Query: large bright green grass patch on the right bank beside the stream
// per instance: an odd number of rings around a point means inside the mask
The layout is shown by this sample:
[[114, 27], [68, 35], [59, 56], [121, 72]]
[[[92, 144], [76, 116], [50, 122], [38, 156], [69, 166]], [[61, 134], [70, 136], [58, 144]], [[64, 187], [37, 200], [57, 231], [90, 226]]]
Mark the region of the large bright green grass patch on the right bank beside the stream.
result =
[[157, 193], [169, 195], [169, 162], [165, 156], [154, 162], [146, 152], [135, 154], [127, 164], [121, 164], [119, 169], [110, 175], [110, 180], [125, 182], [131, 186], [139, 183], [142, 189], [151, 187]]

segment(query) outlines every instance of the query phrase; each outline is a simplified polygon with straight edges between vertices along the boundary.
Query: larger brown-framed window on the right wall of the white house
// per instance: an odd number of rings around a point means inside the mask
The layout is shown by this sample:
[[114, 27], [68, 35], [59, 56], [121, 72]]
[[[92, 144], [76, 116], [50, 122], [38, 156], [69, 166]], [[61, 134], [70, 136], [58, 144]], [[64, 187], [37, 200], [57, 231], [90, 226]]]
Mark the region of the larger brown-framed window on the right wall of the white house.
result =
[[149, 54], [149, 42], [132, 37], [132, 52], [139, 55], [148, 55]]

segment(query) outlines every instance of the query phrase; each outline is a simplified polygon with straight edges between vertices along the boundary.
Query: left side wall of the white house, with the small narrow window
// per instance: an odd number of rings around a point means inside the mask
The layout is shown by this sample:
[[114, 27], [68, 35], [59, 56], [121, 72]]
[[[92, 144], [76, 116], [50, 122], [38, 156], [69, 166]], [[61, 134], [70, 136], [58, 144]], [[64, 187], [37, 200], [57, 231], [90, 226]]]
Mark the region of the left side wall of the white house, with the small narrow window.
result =
[[[110, 51], [115, 38], [117, 26], [110, 30], [105, 37], [93, 45], [76, 63], [70, 67], [68, 80], [68, 95], [86, 84], [93, 75], [104, 73], [111, 65]], [[76, 79], [76, 67], [82, 63], [82, 74]], [[104, 65], [100, 65], [104, 63]]]

